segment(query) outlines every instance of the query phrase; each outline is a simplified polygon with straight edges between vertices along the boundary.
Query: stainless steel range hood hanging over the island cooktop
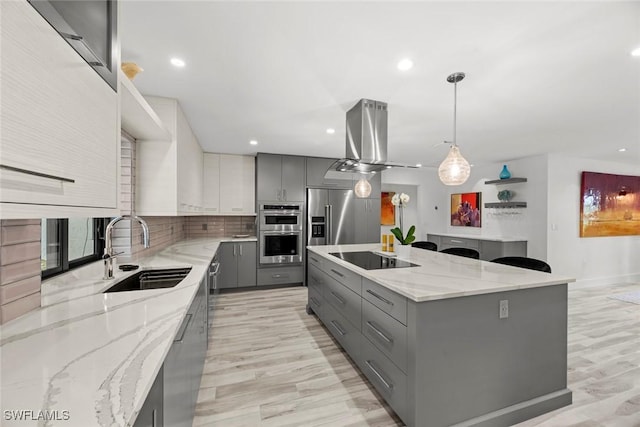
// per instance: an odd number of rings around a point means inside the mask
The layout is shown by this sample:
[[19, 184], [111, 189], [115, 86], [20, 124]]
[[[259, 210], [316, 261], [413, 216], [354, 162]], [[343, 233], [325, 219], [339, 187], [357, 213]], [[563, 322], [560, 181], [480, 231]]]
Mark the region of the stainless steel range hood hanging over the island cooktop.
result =
[[374, 173], [392, 167], [415, 167], [387, 160], [387, 103], [361, 99], [347, 111], [345, 158], [336, 161], [335, 172]]

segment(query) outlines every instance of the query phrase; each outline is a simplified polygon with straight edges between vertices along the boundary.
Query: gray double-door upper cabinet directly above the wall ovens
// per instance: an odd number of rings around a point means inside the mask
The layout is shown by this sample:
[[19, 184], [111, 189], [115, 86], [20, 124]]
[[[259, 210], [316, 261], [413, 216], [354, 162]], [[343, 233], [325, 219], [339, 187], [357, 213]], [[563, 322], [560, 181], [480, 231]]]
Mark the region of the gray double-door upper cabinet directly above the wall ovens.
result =
[[305, 191], [305, 159], [258, 153], [257, 200], [302, 202]]

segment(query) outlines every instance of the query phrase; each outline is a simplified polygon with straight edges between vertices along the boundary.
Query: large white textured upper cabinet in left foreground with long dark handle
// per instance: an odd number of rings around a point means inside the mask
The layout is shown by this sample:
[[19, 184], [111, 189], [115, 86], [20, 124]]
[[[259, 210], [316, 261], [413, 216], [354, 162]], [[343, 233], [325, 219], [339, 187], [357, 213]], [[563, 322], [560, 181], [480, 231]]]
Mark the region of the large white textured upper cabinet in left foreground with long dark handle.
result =
[[117, 93], [28, 2], [0, 19], [0, 217], [117, 214]]

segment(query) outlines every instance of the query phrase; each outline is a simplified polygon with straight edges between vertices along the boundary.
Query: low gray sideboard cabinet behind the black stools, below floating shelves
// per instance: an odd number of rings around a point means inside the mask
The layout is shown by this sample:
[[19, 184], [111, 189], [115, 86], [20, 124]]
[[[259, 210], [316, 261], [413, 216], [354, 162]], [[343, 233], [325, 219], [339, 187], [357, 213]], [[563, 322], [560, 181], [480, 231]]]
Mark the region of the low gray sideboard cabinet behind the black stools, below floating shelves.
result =
[[492, 239], [490, 237], [459, 237], [447, 234], [427, 234], [427, 240], [438, 245], [438, 250], [469, 248], [480, 253], [480, 259], [491, 261], [504, 256], [527, 256], [526, 240]]

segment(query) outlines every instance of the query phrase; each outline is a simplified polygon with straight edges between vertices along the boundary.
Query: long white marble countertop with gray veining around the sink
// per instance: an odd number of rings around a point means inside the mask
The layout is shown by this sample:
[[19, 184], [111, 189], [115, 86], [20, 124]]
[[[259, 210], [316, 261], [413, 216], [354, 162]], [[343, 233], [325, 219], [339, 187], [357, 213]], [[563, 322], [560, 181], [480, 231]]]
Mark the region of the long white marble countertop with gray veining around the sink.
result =
[[[102, 262], [43, 282], [42, 307], [0, 326], [0, 424], [132, 425], [219, 243], [252, 239], [185, 240], [136, 262], [192, 267], [173, 288], [103, 294], [140, 270], [106, 281]], [[12, 421], [6, 411], [33, 413]], [[39, 411], [60, 419], [38, 421]]]

